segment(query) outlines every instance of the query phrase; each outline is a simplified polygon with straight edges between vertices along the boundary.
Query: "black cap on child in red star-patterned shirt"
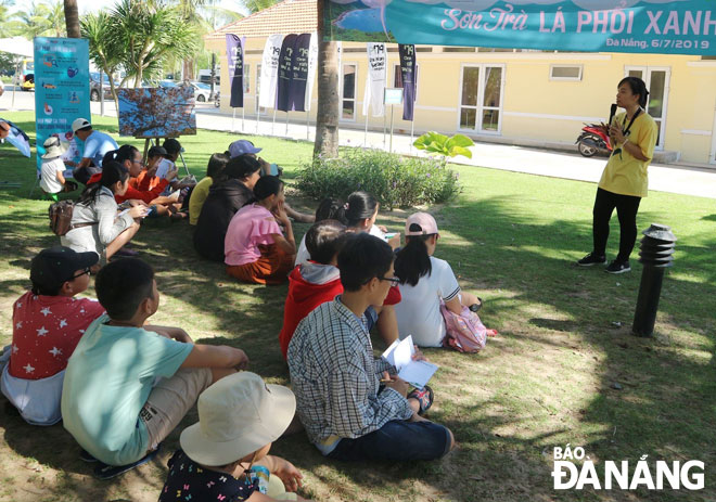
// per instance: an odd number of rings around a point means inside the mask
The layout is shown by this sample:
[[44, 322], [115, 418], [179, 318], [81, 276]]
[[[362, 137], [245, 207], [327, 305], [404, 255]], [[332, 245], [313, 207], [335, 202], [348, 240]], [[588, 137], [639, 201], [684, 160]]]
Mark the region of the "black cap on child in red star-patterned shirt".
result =
[[59, 289], [71, 281], [77, 270], [86, 269], [100, 260], [94, 252], [77, 253], [65, 246], [41, 250], [30, 266], [30, 281], [42, 289]]

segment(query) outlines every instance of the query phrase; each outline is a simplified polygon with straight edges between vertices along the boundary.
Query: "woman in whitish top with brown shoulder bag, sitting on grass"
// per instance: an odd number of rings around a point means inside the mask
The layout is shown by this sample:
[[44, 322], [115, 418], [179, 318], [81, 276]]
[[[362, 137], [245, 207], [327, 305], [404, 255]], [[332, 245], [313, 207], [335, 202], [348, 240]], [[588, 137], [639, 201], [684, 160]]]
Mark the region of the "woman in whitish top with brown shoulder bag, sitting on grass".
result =
[[106, 260], [131, 241], [139, 230], [136, 219], [146, 214], [146, 207], [137, 202], [117, 215], [114, 197], [124, 195], [128, 186], [127, 168], [116, 162], [106, 164], [99, 182], [87, 186], [75, 204], [71, 230], [60, 237], [62, 245], [77, 253], [94, 252], [101, 260]]

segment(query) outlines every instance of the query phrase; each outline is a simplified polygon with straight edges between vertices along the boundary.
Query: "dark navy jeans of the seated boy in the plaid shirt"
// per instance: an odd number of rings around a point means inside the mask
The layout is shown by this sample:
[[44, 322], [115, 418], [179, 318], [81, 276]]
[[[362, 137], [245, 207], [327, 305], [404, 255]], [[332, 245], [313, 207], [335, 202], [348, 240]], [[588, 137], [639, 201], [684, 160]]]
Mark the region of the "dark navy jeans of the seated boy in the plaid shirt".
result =
[[334, 460], [434, 460], [450, 451], [450, 432], [433, 422], [394, 420], [366, 436], [343, 438], [328, 454]]

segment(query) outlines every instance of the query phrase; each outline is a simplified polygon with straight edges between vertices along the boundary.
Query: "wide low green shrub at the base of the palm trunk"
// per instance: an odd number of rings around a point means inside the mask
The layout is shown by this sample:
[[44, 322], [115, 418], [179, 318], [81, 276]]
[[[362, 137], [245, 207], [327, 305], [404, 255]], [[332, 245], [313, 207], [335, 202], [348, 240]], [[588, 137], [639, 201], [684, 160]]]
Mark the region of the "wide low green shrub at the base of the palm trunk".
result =
[[444, 203], [461, 190], [458, 175], [439, 160], [363, 149], [345, 150], [338, 158], [305, 164], [297, 186], [317, 199], [345, 201], [350, 193], [363, 190], [389, 209]]

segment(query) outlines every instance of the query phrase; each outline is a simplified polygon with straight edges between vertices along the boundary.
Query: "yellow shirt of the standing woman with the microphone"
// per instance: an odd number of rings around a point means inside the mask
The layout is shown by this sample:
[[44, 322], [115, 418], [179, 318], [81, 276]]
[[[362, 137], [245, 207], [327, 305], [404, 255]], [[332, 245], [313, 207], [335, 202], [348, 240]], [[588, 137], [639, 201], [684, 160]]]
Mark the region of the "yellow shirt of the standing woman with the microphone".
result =
[[[626, 114], [621, 113], [615, 117], [614, 123], [622, 125], [625, 118]], [[627, 120], [626, 126], [628, 125]], [[627, 138], [629, 143], [641, 149], [647, 160], [632, 157], [626, 150], [616, 152], [622, 145], [616, 146], [615, 153], [612, 154], [602, 172], [602, 179], [599, 180], [599, 188], [619, 195], [645, 197], [649, 188], [647, 168], [654, 156], [657, 136], [659, 130], [654, 119], [648, 113], [641, 112], [634, 120]]]

